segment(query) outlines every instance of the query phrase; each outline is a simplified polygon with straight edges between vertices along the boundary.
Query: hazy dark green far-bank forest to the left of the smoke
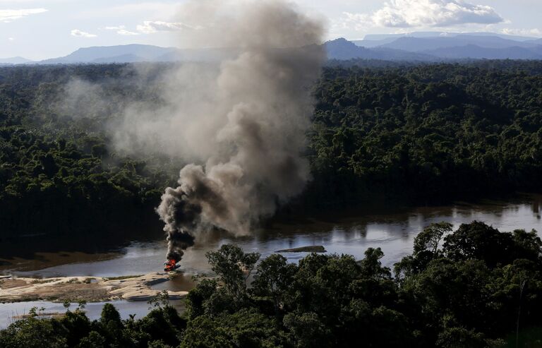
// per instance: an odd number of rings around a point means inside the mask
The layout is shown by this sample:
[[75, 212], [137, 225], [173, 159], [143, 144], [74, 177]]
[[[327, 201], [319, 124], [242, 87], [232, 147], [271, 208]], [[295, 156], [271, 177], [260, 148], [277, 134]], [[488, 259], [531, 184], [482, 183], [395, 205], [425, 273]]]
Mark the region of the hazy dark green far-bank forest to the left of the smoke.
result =
[[[0, 238], [111, 234], [155, 220], [178, 167], [116, 154], [104, 126], [123, 95], [145, 99], [133, 76], [120, 65], [0, 68]], [[73, 100], [67, 108], [74, 79], [103, 85], [112, 105]]]

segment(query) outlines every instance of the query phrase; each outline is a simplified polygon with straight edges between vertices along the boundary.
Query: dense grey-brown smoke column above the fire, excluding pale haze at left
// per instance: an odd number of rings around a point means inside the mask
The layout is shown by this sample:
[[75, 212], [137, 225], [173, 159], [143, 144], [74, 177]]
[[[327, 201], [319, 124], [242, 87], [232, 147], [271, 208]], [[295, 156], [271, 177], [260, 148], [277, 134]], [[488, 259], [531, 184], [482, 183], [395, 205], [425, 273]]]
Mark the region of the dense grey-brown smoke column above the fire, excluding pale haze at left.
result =
[[248, 234], [277, 203], [301, 193], [309, 177], [301, 153], [313, 111], [310, 90], [325, 58], [323, 25], [291, 4], [246, 1], [237, 11], [229, 8], [235, 16], [226, 19], [229, 1], [202, 4], [206, 11], [193, 4], [196, 13], [216, 17], [203, 18], [212, 23], [209, 32], [202, 27], [193, 35], [216, 36], [241, 50], [220, 65], [215, 112], [202, 120], [219, 125], [214, 138], [202, 139], [215, 150], [205, 164], [181, 169], [179, 186], [167, 188], [157, 208], [167, 258], [176, 261], [198, 234], [213, 228]]

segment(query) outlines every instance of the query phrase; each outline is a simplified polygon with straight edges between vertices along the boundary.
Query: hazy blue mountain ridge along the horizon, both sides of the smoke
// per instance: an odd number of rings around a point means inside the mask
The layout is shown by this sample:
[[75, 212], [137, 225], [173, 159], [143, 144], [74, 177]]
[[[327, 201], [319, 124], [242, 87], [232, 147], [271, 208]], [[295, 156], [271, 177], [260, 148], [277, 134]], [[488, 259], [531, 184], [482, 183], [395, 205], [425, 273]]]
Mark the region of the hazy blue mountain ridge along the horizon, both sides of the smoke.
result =
[[[461, 59], [542, 59], [542, 39], [486, 32], [413, 32], [409, 35], [367, 35], [364, 40], [344, 38], [325, 42], [328, 59], [378, 59], [437, 62]], [[148, 44], [85, 47], [54, 59], [30, 61], [22, 57], [0, 59], [13, 64], [107, 64], [157, 61], [222, 61], [234, 58], [235, 48], [179, 49]]]

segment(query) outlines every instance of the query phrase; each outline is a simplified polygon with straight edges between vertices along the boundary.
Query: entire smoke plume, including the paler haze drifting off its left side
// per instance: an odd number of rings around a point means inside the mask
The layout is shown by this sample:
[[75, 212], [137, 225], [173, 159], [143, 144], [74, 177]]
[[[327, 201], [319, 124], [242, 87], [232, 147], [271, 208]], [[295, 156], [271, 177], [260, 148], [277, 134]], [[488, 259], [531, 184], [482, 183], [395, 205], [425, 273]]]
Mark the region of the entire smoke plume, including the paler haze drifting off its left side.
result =
[[301, 193], [310, 88], [325, 56], [321, 21], [282, 1], [198, 0], [178, 17], [191, 28], [181, 43], [238, 53], [216, 68], [183, 64], [165, 83], [163, 109], [128, 109], [117, 133], [127, 147], [154, 144], [199, 163], [181, 169], [157, 208], [175, 260], [198, 234], [246, 235]]

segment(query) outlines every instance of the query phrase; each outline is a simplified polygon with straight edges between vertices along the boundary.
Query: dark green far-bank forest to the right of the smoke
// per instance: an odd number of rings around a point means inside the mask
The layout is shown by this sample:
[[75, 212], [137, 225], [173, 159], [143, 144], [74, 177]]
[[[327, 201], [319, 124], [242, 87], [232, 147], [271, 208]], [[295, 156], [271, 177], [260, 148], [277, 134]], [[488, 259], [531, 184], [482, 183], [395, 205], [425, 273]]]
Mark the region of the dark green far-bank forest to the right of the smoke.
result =
[[303, 204], [540, 191], [541, 89], [540, 61], [325, 68]]

